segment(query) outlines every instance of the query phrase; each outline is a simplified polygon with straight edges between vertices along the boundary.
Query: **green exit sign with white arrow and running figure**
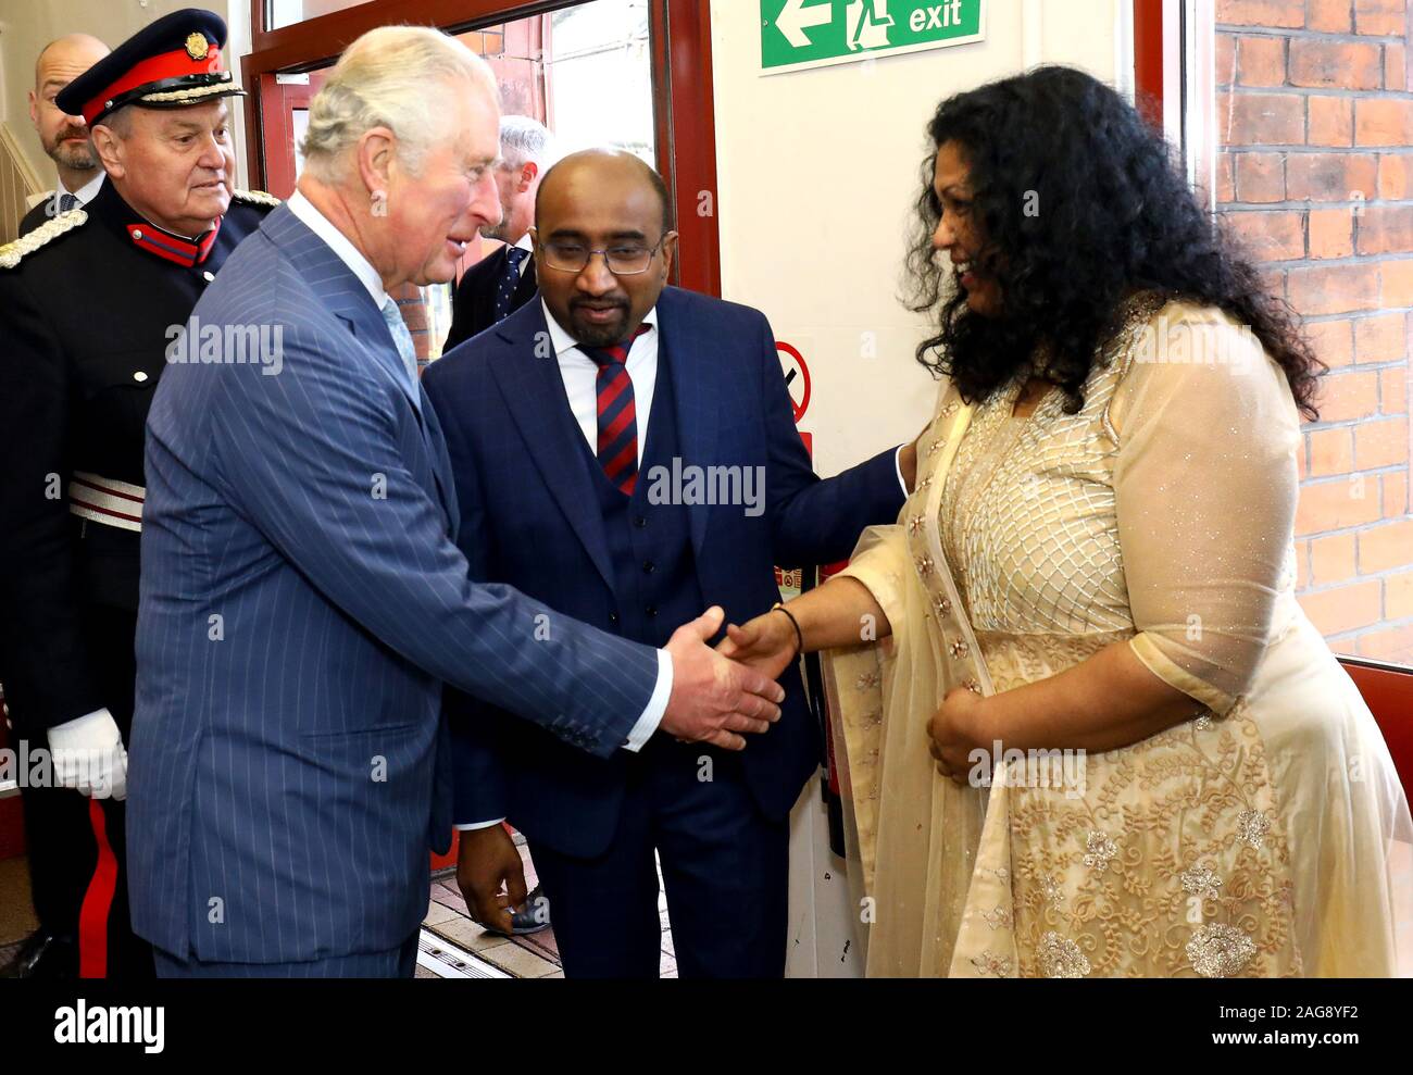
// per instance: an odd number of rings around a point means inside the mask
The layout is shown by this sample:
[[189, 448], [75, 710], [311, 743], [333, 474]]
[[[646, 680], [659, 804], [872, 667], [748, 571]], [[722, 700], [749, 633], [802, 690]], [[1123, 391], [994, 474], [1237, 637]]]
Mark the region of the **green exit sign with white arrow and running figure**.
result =
[[985, 37], [985, 0], [760, 0], [760, 69], [849, 64]]

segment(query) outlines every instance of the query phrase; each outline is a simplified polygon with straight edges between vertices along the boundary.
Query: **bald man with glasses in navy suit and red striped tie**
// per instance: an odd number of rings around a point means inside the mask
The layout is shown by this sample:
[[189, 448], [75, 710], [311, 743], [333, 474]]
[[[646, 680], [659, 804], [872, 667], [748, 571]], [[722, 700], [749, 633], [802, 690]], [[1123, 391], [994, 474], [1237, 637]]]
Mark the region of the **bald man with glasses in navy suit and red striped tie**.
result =
[[[705, 600], [738, 623], [766, 612], [774, 565], [844, 558], [897, 517], [911, 448], [821, 482], [764, 316], [666, 287], [677, 233], [651, 168], [567, 157], [536, 222], [543, 302], [425, 376], [475, 579], [558, 610], [550, 637], [572, 616], [658, 646]], [[536, 848], [565, 973], [656, 978], [656, 850], [680, 973], [780, 976], [788, 815], [820, 749], [798, 670], [770, 671], [784, 715], [740, 754], [657, 735], [591, 757], [452, 692], [468, 904], [524, 891], [507, 818]]]

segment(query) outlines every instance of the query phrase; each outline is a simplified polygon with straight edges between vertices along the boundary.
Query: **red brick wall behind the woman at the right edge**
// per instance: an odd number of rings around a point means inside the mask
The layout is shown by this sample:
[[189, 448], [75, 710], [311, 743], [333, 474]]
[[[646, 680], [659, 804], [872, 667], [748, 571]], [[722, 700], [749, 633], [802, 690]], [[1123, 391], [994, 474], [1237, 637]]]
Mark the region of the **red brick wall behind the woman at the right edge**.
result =
[[1331, 367], [1300, 461], [1300, 602], [1337, 653], [1413, 663], [1406, 0], [1217, 0], [1217, 208]]

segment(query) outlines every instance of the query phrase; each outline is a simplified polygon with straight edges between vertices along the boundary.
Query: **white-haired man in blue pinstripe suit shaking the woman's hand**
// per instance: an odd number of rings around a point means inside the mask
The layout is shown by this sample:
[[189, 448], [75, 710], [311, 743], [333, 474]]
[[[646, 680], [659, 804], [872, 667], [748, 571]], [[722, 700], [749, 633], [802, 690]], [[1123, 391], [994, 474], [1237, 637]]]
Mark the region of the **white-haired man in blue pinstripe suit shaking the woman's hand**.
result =
[[[449, 280], [496, 219], [497, 120], [452, 38], [350, 45], [311, 103], [298, 194], [188, 325], [222, 360], [157, 391], [129, 839], [161, 975], [411, 973], [451, 831], [442, 682], [601, 757], [657, 729], [743, 747], [779, 719], [780, 688], [706, 647], [719, 609], [653, 650], [468, 579], [386, 292]], [[278, 353], [233, 350], [244, 326]]]

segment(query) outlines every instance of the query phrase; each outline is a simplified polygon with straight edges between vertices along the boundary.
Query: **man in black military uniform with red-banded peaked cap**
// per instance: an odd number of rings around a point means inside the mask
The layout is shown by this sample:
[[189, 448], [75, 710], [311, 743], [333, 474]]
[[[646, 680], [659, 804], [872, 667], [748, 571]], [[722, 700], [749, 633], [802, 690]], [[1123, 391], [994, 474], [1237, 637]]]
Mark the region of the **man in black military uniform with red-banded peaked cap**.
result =
[[75, 78], [55, 103], [107, 181], [0, 247], [0, 681], [16, 739], [52, 752], [40, 794], [69, 805], [31, 855], [69, 879], [42, 918], [85, 978], [151, 973], [122, 804], [147, 408], [196, 299], [276, 205], [230, 185], [225, 41], [215, 14], [178, 11]]

